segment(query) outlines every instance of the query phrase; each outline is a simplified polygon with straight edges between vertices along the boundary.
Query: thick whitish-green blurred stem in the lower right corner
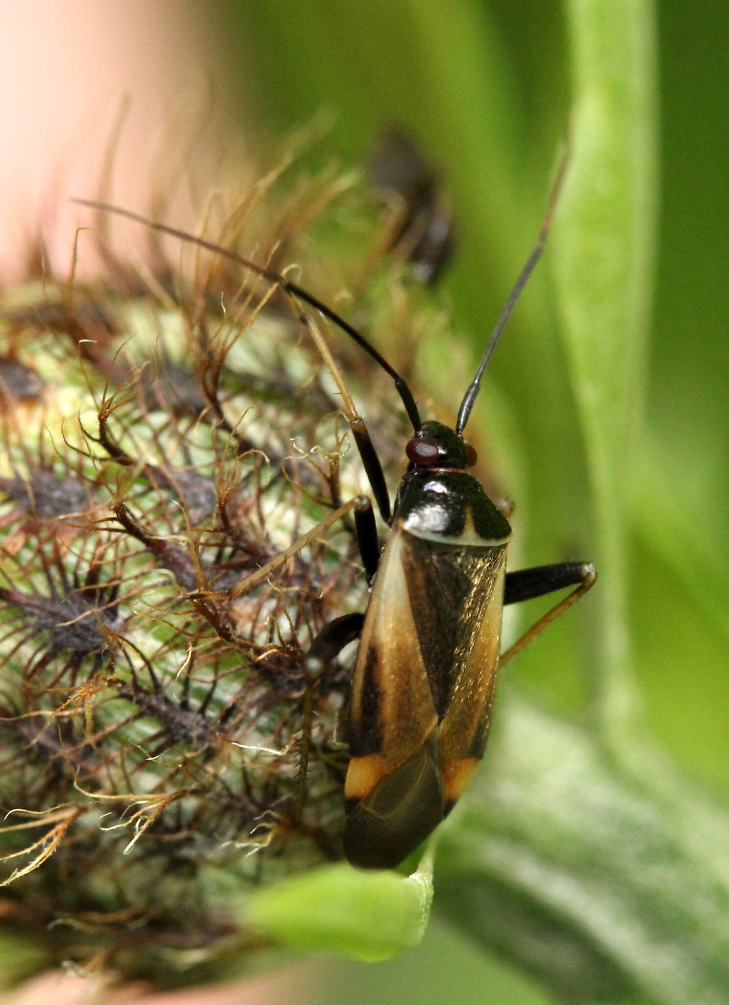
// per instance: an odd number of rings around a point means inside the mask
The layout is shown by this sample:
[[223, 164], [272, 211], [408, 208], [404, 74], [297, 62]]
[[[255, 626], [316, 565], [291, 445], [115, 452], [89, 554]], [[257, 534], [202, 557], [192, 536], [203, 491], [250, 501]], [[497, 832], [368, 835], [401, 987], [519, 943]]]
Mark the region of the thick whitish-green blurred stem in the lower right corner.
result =
[[443, 830], [439, 913], [560, 1001], [729, 1001], [729, 865], [707, 857], [729, 816], [700, 794], [659, 801], [586, 732], [510, 695]]

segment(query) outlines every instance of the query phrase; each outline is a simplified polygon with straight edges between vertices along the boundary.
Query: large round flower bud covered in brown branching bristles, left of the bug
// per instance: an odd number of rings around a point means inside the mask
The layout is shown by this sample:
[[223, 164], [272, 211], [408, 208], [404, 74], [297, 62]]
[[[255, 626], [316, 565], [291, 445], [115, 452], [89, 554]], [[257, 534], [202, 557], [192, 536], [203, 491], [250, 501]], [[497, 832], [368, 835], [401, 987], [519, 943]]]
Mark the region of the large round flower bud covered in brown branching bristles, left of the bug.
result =
[[[278, 268], [338, 191], [309, 188], [261, 245]], [[222, 230], [250, 253], [246, 219]], [[375, 220], [350, 228], [366, 326]], [[332, 519], [367, 483], [279, 288], [198, 253], [191, 279], [179, 246], [139, 274], [101, 249], [104, 280], [0, 300], [0, 924], [45, 965], [165, 983], [245, 944], [246, 890], [341, 856], [346, 651], [315, 679], [305, 657], [367, 604], [351, 514]], [[395, 482], [392, 382], [336, 355]]]

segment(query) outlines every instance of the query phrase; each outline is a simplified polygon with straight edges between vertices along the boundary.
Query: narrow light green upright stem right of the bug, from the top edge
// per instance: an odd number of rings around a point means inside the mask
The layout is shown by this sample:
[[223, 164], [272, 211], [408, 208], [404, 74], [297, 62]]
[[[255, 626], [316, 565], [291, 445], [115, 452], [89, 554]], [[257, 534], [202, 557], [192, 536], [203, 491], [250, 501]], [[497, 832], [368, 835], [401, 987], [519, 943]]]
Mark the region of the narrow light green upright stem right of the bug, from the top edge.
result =
[[594, 497], [599, 726], [621, 753], [641, 719], [627, 626], [626, 527], [656, 240], [655, 18], [650, 0], [569, 0], [566, 14], [573, 156], [552, 262]]

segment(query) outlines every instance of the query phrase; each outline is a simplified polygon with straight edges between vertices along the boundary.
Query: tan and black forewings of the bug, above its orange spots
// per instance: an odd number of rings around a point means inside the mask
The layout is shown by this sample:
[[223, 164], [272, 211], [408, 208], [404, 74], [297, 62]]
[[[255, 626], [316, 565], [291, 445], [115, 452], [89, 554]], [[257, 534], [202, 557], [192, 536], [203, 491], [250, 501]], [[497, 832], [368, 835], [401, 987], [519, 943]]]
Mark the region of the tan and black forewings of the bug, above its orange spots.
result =
[[437, 722], [446, 773], [460, 770], [464, 759], [475, 763], [483, 755], [498, 662], [505, 554], [503, 545], [433, 542], [396, 525], [354, 668], [354, 757], [379, 754], [394, 770]]

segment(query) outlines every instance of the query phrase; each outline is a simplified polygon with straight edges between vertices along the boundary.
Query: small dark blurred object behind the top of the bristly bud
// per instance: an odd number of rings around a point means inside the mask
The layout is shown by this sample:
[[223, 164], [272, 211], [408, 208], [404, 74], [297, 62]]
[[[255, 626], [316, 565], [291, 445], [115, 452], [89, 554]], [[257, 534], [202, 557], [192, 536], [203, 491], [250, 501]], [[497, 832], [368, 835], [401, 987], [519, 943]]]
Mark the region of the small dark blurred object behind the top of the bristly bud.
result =
[[436, 282], [451, 260], [455, 229], [438, 172], [405, 130], [389, 126], [370, 155], [368, 173], [392, 209], [387, 249], [406, 258], [420, 282]]

